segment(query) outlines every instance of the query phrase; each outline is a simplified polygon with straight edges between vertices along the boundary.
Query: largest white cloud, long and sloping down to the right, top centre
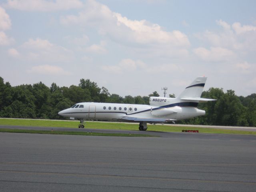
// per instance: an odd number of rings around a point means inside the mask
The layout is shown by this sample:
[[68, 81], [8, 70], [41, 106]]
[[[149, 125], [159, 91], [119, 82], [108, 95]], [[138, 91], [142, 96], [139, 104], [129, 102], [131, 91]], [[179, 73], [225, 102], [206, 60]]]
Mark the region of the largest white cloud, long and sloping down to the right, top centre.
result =
[[165, 31], [158, 24], [146, 20], [130, 20], [119, 13], [112, 12], [107, 6], [89, 0], [84, 11], [76, 15], [61, 18], [64, 25], [80, 24], [93, 26], [102, 35], [116, 42], [128, 44], [171, 44], [188, 47], [190, 42], [186, 34], [173, 30]]

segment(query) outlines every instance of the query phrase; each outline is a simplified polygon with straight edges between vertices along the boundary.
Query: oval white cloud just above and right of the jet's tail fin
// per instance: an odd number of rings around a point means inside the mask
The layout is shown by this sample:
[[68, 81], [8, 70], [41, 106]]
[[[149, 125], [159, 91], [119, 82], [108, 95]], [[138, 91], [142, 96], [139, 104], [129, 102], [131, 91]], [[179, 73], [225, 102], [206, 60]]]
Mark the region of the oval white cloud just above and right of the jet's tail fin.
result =
[[202, 60], [208, 62], [228, 61], [235, 58], [234, 52], [222, 47], [211, 47], [210, 50], [199, 47], [193, 52]]

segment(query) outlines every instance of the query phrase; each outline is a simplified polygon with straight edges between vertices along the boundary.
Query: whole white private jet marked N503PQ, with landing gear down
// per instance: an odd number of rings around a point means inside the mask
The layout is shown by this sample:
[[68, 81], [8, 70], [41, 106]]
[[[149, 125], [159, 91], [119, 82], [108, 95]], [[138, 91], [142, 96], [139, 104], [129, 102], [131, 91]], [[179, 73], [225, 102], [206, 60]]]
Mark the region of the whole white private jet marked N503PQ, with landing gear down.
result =
[[196, 78], [176, 98], [150, 97], [149, 105], [81, 102], [58, 114], [72, 120], [80, 119], [78, 128], [84, 128], [84, 120], [108, 120], [138, 122], [139, 130], [146, 131], [147, 123], [175, 123], [177, 120], [204, 115], [205, 111], [197, 108], [198, 103], [214, 101], [201, 98], [206, 79]]

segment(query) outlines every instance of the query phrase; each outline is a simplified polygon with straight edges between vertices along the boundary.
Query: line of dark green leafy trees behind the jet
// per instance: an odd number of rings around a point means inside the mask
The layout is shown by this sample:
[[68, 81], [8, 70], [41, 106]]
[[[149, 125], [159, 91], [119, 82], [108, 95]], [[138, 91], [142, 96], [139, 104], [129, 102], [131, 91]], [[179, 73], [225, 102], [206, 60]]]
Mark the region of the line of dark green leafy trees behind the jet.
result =
[[[65, 119], [58, 115], [60, 110], [78, 102], [108, 102], [127, 104], [149, 104], [150, 96], [159, 96], [154, 91], [148, 96], [125, 96], [110, 94], [96, 82], [80, 79], [78, 86], [59, 87], [52, 83], [50, 88], [42, 82], [11, 86], [0, 77], [0, 117]], [[169, 97], [175, 97], [170, 94]], [[217, 101], [199, 103], [198, 108], [206, 115], [178, 121], [182, 124], [256, 126], [256, 94], [236, 96], [234, 90], [224, 92], [222, 88], [210, 88], [202, 93], [203, 98]]]

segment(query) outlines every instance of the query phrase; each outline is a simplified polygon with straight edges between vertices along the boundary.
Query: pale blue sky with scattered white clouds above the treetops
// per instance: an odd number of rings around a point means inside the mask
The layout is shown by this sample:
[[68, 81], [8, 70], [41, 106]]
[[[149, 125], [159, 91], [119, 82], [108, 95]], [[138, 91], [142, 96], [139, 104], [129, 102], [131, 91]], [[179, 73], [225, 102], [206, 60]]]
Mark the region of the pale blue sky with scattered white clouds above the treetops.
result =
[[255, 1], [0, 0], [0, 76], [13, 86], [77, 85], [110, 93], [256, 92]]

